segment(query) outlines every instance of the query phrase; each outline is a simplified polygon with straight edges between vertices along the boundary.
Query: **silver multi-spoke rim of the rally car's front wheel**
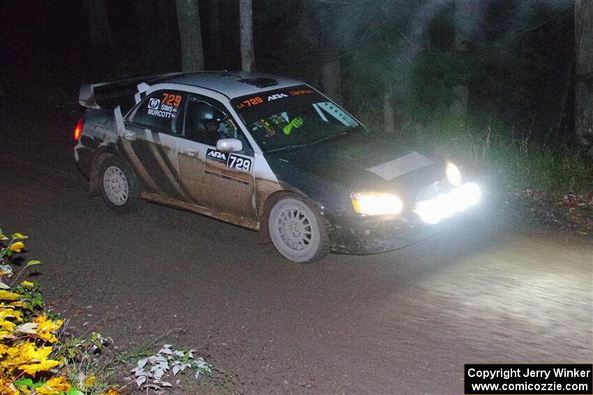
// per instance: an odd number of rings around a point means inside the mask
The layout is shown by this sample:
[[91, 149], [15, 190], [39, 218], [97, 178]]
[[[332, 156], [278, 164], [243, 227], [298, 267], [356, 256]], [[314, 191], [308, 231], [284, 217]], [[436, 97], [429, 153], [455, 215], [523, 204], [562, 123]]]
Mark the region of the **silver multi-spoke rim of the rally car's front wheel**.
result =
[[277, 217], [276, 231], [287, 249], [302, 253], [313, 242], [313, 230], [306, 212], [298, 207], [282, 210]]

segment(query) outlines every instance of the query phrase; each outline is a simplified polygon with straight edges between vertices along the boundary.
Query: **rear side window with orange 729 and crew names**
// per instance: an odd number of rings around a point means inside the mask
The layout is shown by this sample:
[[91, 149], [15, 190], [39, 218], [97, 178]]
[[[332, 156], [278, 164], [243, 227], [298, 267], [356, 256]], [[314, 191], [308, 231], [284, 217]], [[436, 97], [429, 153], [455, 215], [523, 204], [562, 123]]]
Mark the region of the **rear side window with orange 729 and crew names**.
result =
[[128, 122], [153, 132], [179, 134], [181, 106], [184, 102], [185, 93], [180, 91], [153, 92], [132, 111]]

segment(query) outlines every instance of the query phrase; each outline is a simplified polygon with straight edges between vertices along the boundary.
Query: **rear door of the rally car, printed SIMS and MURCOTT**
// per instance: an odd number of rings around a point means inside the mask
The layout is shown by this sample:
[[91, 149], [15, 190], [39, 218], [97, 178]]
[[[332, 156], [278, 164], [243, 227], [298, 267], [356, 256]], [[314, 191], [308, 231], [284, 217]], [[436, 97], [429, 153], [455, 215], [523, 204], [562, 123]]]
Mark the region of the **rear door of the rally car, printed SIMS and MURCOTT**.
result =
[[177, 146], [185, 93], [156, 91], [144, 98], [123, 123], [121, 146], [149, 192], [186, 200], [179, 184]]

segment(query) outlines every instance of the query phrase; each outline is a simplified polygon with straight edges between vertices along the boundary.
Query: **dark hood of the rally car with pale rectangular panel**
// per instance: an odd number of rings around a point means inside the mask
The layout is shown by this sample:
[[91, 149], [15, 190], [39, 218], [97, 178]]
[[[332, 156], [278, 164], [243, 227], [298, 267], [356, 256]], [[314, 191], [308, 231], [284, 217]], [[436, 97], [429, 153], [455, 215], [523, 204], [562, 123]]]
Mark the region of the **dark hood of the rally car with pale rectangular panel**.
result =
[[[359, 133], [266, 154], [280, 182], [303, 192], [341, 187], [414, 195], [444, 176], [444, 161], [403, 146], [396, 136]], [[331, 188], [330, 185], [333, 187]]]

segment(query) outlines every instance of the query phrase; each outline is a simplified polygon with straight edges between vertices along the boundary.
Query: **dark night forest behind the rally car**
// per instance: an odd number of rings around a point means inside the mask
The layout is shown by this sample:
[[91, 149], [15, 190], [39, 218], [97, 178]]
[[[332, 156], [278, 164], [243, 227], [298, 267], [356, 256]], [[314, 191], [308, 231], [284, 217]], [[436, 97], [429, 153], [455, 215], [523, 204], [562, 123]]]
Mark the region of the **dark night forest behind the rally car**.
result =
[[[81, 82], [181, 70], [182, 2], [199, 8], [204, 69], [241, 69], [239, 0], [2, 1], [0, 98], [75, 101]], [[497, 134], [518, 150], [534, 142], [574, 153], [583, 149], [575, 9], [574, 0], [253, 0], [253, 68], [303, 79], [384, 132], [449, 139], [460, 137], [444, 129], [471, 127], [476, 144]]]

